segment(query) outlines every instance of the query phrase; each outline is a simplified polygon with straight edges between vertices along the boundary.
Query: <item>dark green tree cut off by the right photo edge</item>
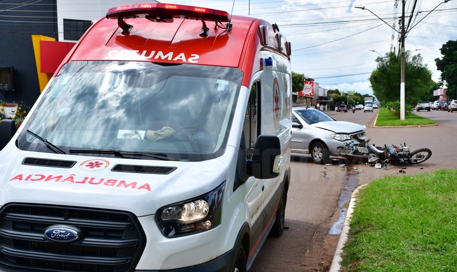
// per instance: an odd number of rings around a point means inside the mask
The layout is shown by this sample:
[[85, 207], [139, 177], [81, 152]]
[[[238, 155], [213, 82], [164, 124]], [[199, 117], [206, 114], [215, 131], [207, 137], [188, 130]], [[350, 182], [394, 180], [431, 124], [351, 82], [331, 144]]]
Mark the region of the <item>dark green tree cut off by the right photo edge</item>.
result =
[[[457, 99], [457, 40], [448, 41], [440, 48], [443, 58], [436, 58], [435, 63], [441, 71], [441, 83], [446, 82], [448, 96]], [[441, 84], [443, 85], [443, 84]]]

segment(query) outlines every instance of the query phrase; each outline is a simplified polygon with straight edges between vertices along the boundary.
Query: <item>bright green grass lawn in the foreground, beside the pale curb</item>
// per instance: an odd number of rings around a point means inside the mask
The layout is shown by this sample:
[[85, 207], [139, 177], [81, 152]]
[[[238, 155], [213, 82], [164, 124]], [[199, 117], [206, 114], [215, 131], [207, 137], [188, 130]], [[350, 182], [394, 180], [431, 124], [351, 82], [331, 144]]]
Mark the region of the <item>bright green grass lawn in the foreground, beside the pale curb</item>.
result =
[[387, 176], [361, 189], [340, 271], [456, 271], [456, 176]]

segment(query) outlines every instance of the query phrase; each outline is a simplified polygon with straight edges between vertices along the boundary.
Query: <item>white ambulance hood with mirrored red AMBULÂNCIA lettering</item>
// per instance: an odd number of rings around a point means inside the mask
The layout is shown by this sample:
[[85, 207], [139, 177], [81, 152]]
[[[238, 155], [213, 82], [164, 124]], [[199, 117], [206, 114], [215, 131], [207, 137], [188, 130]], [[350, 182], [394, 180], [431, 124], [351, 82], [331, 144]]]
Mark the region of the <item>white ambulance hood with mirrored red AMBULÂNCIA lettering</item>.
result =
[[[9, 149], [4, 151], [14, 155], [9, 156], [9, 163], [0, 165], [2, 206], [8, 202], [77, 205], [146, 216], [171, 203], [203, 195], [226, 177], [226, 164], [218, 159], [133, 160], [24, 152], [11, 145]], [[42, 166], [62, 161], [76, 163], [70, 168]], [[121, 172], [114, 172], [118, 164], [135, 167], [123, 166]], [[149, 170], [156, 167], [156, 173], [164, 174], [126, 172], [139, 171], [142, 166], [150, 166]]]

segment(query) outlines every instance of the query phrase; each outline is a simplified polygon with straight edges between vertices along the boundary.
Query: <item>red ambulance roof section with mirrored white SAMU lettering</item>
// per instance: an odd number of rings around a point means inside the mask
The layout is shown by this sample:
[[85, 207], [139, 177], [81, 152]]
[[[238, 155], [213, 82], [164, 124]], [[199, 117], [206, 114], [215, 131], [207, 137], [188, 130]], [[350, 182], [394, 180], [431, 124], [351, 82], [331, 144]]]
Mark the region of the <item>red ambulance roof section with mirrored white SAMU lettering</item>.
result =
[[[66, 60], [136, 60], [239, 67], [246, 54], [255, 55], [259, 48], [279, 50], [277, 27], [263, 20], [230, 16], [217, 10], [209, 10], [210, 16], [192, 16], [189, 10], [184, 10], [187, 12], [184, 15], [164, 14], [157, 11], [155, 5], [166, 4], [150, 5], [154, 5], [154, 13], [138, 10], [135, 5], [110, 9], [107, 18], [86, 31]], [[227, 32], [228, 22], [224, 21], [229, 20], [232, 28]], [[256, 35], [259, 25], [265, 25], [264, 45], [261, 45], [261, 35]], [[206, 27], [207, 33], [204, 33]], [[286, 55], [286, 50], [282, 53]]]

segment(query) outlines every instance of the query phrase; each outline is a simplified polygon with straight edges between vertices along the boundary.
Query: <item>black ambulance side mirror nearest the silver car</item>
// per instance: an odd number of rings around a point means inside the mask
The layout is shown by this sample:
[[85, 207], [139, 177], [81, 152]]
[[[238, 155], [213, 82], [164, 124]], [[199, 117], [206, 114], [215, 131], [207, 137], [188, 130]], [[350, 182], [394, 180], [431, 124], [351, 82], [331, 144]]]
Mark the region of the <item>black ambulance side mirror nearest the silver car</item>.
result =
[[252, 160], [248, 161], [248, 174], [257, 179], [272, 179], [279, 176], [275, 172], [276, 156], [281, 155], [281, 143], [274, 135], [260, 135], [254, 147]]

